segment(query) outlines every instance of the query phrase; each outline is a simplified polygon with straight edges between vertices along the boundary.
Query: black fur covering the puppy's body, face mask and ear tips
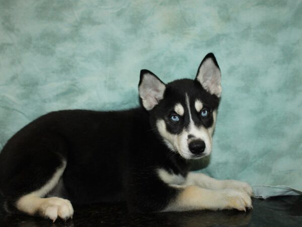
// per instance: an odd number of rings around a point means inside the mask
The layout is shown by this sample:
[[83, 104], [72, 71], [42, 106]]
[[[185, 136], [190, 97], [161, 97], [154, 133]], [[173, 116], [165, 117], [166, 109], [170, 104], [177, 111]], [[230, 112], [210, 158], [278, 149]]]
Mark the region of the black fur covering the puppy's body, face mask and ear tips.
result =
[[[206, 58], [213, 58], [212, 55]], [[215, 61], [215, 64], [216, 61]], [[142, 74], [149, 71], [142, 71]], [[152, 74], [152, 73], [151, 73]], [[0, 153], [0, 191], [8, 207], [22, 195], [40, 189], [66, 160], [58, 196], [72, 203], [126, 201], [132, 211], [160, 211], [177, 196], [178, 189], [159, 179], [157, 168], [186, 176], [189, 162], [171, 153], [156, 129], [162, 118], [171, 133], [188, 125], [184, 118], [169, 120], [176, 103], [185, 106], [185, 93], [199, 97], [210, 116], [198, 125], [210, 127], [219, 98], [196, 80], [182, 79], [166, 85], [164, 98], [152, 110], [61, 110], [50, 112], [17, 132]], [[194, 100], [190, 100], [194, 106]], [[185, 110], [187, 111], [187, 110]], [[173, 125], [174, 124], [174, 125]]]

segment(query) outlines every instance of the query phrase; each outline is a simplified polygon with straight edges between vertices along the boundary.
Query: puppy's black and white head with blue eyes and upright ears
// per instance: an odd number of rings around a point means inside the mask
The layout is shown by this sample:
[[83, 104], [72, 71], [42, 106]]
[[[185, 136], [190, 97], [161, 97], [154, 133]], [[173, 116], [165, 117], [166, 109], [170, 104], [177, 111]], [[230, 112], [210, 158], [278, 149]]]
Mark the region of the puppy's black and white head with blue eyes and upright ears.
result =
[[214, 54], [204, 57], [194, 80], [165, 84], [152, 72], [141, 70], [138, 90], [152, 127], [172, 151], [186, 159], [211, 153], [221, 95], [221, 74]]

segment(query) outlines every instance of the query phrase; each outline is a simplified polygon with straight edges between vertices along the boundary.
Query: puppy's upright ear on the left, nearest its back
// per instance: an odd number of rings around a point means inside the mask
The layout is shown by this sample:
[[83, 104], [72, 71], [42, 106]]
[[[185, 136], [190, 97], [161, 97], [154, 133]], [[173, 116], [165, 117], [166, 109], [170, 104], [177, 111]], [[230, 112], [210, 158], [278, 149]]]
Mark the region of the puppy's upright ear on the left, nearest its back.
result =
[[164, 98], [166, 85], [154, 73], [148, 70], [140, 71], [138, 84], [139, 96], [146, 110], [151, 110]]

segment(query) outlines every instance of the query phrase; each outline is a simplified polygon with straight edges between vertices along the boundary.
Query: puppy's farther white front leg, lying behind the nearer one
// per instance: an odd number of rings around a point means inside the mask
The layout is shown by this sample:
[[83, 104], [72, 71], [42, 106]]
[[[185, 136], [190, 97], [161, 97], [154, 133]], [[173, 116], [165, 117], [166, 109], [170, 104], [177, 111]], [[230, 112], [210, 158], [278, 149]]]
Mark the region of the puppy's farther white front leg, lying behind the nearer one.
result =
[[216, 180], [201, 173], [189, 173], [185, 185], [197, 185], [212, 190], [235, 189], [245, 192], [249, 196], [253, 195], [252, 187], [248, 183], [236, 180]]

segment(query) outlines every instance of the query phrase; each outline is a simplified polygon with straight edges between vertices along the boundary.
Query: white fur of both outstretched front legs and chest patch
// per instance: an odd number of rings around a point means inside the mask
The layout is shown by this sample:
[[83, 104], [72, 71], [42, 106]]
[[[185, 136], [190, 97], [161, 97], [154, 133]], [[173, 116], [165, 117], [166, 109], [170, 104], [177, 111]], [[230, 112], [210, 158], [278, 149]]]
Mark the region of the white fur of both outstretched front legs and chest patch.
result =
[[164, 211], [192, 209], [238, 209], [252, 208], [252, 188], [247, 183], [219, 181], [200, 173], [189, 173], [186, 178], [157, 169], [160, 179], [170, 187], [178, 188], [180, 195]]

